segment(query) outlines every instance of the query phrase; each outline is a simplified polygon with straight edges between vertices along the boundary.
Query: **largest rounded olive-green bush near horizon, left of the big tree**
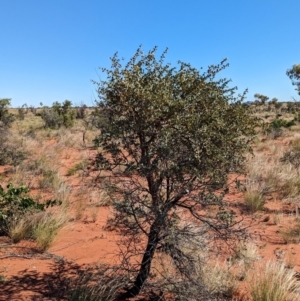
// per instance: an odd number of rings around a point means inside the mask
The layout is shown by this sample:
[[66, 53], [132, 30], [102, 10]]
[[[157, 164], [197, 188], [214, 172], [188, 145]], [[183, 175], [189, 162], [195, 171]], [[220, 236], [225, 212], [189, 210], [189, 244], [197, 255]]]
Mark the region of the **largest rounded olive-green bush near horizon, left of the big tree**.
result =
[[61, 126], [72, 127], [76, 112], [72, 108], [72, 102], [65, 100], [62, 104], [54, 102], [51, 108], [44, 107], [41, 117], [45, 122], [45, 128], [57, 129]]

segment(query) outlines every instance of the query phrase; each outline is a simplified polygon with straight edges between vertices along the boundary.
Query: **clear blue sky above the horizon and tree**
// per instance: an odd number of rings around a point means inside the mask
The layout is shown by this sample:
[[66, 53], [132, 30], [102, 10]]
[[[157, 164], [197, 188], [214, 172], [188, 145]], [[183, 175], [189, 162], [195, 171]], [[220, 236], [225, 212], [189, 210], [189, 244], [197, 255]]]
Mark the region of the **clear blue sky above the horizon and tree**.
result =
[[168, 47], [172, 65], [228, 58], [222, 76], [248, 88], [247, 100], [292, 100], [285, 72], [300, 63], [299, 12], [299, 0], [0, 0], [0, 98], [92, 105], [99, 67], [142, 44]]

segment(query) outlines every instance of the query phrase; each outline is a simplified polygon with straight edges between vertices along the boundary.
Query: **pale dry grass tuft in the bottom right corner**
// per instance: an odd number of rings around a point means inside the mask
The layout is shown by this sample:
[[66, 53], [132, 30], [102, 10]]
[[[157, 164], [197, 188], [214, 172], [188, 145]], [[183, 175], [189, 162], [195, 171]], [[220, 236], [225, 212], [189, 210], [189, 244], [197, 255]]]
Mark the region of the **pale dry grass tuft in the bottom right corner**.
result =
[[286, 269], [283, 263], [268, 262], [253, 270], [248, 283], [253, 301], [297, 301], [300, 298], [300, 283], [295, 272]]

